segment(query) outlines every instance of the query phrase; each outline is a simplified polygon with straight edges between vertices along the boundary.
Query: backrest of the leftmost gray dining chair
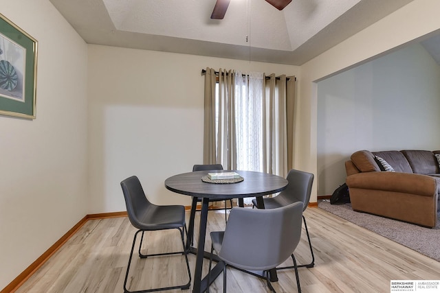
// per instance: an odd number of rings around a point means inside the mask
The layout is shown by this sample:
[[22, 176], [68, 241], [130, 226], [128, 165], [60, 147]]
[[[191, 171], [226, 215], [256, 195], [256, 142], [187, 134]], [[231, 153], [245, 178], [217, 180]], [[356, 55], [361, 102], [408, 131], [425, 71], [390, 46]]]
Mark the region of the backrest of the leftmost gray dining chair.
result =
[[135, 228], [140, 229], [142, 224], [144, 224], [140, 217], [145, 214], [148, 207], [152, 207], [155, 204], [152, 204], [146, 198], [144, 189], [137, 176], [131, 176], [122, 180], [121, 187], [129, 220]]

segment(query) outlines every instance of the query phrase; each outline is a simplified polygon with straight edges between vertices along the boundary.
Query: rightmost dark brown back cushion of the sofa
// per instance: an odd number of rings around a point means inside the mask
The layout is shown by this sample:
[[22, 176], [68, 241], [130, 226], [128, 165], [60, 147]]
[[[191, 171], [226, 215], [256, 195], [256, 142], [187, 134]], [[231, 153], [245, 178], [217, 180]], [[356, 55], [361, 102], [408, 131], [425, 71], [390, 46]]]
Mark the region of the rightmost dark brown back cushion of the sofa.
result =
[[416, 174], [435, 174], [439, 173], [439, 162], [433, 152], [428, 150], [401, 150], [412, 172]]

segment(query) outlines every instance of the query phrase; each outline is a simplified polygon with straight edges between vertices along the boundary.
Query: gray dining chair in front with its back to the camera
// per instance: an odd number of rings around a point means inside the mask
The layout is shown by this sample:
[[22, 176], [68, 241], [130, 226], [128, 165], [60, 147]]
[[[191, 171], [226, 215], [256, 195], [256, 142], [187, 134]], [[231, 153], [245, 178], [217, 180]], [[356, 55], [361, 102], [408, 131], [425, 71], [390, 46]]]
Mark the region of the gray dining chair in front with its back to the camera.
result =
[[[246, 271], [263, 271], [267, 286], [275, 292], [270, 283], [269, 270], [292, 257], [296, 274], [296, 285], [301, 292], [294, 250], [301, 237], [303, 202], [294, 202], [278, 209], [248, 209], [234, 207], [229, 215], [225, 231], [210, 233], [212, 253], [223, 262], [223, 292], [226, 292], [226, 271], [228, 266]], [[210, 275], [208, 274], [208, 284]]]

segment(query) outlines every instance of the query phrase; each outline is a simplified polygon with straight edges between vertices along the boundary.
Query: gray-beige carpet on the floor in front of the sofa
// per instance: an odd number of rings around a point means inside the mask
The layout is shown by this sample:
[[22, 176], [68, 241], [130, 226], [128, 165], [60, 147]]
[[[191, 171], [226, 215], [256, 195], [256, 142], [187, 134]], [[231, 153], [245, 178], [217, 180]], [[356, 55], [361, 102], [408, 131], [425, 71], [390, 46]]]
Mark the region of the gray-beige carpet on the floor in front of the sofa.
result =
[[437, 217], [437, 226], [424, 228], [369, 213], [359, 213], [351, 209], [351, 204], [330, 204], [327, 201], [319, 201], [318, 207], [440, 261], [440, 213]]

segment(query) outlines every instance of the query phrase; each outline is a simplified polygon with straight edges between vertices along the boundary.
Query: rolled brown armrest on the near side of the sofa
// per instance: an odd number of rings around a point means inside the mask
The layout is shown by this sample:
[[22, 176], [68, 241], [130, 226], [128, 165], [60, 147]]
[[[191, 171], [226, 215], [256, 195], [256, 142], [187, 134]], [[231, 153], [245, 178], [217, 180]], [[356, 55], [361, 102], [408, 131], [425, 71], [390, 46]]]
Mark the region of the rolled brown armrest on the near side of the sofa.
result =
[[393, 191], [418, 196], [436, 196], [434, 178], [421, 174], [400, 172], [363, 172], [347, 176], [349, 188]]

